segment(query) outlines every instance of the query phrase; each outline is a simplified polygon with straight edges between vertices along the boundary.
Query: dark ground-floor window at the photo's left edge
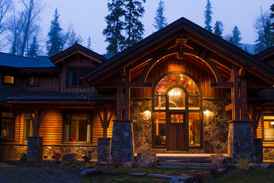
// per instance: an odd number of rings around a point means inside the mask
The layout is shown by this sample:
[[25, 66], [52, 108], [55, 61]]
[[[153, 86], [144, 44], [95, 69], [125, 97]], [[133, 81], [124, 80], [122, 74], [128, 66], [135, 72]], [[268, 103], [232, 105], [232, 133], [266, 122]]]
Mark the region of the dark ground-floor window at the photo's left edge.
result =
[[1, 113], [1, 139], [3, 140], [13, 140], [14, 139], [14, 113]]

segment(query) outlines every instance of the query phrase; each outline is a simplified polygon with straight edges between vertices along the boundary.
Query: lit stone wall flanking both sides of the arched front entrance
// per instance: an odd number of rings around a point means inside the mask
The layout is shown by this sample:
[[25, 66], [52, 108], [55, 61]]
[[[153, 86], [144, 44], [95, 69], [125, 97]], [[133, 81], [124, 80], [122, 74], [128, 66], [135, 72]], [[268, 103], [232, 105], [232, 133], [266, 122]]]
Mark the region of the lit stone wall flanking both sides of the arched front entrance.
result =
[[[204, 117], [204, 150], [189, 149], [187, 153], [227, 153], [228, 121], [231, 112], [226, 112], [227, 99], [203, 99], [203, 111], [211, 111]], [[152, 111], [151, 99], [131, 99], [131, 120], [133, 122], [134, 151], [168, 153], [166, 149], [152, 149], [152, 121], [145, 119], [144, 112]], [[180, 153], [172, 151], [171, 153]]]

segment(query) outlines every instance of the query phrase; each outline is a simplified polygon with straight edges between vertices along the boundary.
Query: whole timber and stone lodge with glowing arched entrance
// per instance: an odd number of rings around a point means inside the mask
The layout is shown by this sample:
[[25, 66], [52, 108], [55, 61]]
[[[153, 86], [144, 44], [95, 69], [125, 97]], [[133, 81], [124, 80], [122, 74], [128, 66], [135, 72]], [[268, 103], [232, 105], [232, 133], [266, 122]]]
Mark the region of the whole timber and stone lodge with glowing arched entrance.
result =
[[30, 136], [43, 137], [44, 158], [81, 158], [121, 122], [135, 153], [246, 156], [262, 139], [274, 158], [273, 54], [252, 56], [185, 18], [115, 56], [80, 45], [51, 58], [0, 53], [1, 158], [20, 158]]

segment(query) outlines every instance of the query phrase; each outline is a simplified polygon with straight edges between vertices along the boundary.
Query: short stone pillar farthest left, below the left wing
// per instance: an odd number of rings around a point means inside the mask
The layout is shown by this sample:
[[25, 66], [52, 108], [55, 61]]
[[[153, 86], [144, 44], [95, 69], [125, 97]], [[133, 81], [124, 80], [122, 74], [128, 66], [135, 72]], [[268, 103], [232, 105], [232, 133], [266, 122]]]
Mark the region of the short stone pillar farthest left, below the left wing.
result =
[[43, 158], [43, 137], [27, 137], [27, 160], [34, 158], [41, 161]]

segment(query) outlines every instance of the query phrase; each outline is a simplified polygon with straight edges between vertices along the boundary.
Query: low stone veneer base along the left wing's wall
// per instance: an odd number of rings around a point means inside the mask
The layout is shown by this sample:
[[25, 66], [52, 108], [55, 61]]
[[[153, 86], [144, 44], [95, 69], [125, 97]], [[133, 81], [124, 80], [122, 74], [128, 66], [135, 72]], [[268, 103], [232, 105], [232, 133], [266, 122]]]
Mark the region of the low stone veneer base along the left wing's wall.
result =
[[[92, 157], [97, 160], [97, 146], [44, 145], [43, 159], [51, 160], [53, 153], [58, 152], [76, 153], [76, 158], [82, 160], [87, 151], [93, 151]], [[23, 153], [27, 153], [26, 144], [1, 144], [1, 160], [20, 160]]]

